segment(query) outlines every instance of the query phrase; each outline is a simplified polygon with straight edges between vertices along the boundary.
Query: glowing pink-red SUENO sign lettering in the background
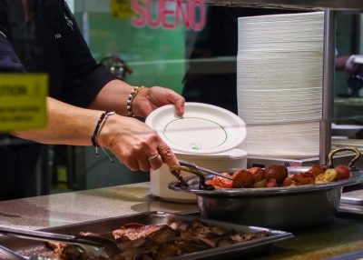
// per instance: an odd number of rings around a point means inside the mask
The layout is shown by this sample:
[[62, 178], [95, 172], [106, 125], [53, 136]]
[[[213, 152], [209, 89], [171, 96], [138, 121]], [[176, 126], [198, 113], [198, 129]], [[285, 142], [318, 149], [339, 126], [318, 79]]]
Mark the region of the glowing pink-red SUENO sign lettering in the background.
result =
[[[152, 8], [157, 5], [156, 14]], [[205, 5], [202, 0], [132, 0], [132, 25], [173, 29], [182, 24], [186, 29], [201, 30], [205, 25]]]

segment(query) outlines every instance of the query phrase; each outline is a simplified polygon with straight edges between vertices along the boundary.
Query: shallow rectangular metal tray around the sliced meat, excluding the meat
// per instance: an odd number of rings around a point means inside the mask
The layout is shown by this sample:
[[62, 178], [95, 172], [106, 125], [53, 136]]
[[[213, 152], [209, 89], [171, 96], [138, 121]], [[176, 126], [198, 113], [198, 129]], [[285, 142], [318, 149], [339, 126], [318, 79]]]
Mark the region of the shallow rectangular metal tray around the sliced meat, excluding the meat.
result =
[[[76, 235], [81, 231], [89, 231], [104, 234], [110, 232], [114, 229], [119, 228], [121, 225], [127, 223], [141, 223], [145, 225], [160, 225], [167, 224], [170, 219], [177, 219], [183, 221], [191, 221], [198, 217], [197, 215], [175, 215], [164, 212], [147, 212], [136, 215], [124, 215], [113, 218], [105, 218], [101, 220], [84, 222], [79, 224], [72, 225], [62, 225], [52, 228], [42, 229], [44, 231], [50, 231], [54, 233], [67, 234], [67, 235]], [[241, 255], [250, 255], [257, 251], [262, 252], [262, 248], [265, 249], [273, 243], [287, 239], [292, 237], [293, 235], [288, 232], [262, 228], [256, 226], [246, 226], [246, 225], [235, 225], [231, 223], [214, 221], [209, 219], [200, 218], [201, 221], [208, 225], [216, 225], [225, 228], [234, 229], [240, 233], [252, 233], [252, 232], [260, 232], [260, 231], [268, 231], [270, 236], [255, 239], [247, 242], [240, 242], [234, 245], [227, 245], [223, 247], [212, 248], [208, 250], [202, 250], [196, 253], [181, 255], [172, 257], [169, 259], [172, 260], [192, 260], [192, 259], [221, 259], [221, 257], [226, 257], [228, 255], [228, 259], [231, 259], [234, 256]], [[46, 248], [44, 242], [36, 242], [33, 240], [26, 240], [23, 238], [15, 238], [10, 236], [0, 237], [0, 245], [5, 245], [6, 247], [15, 250], [15, 252], [21, 255], [36, 255], [36, 254], [44, 254], [49, 252], [50, 250]], [[0, 259], [5, 259], [1, 258]]]

